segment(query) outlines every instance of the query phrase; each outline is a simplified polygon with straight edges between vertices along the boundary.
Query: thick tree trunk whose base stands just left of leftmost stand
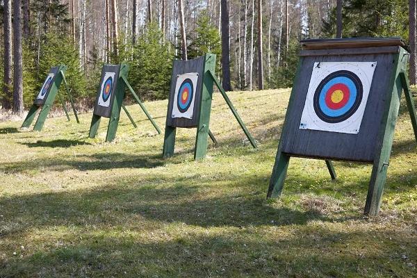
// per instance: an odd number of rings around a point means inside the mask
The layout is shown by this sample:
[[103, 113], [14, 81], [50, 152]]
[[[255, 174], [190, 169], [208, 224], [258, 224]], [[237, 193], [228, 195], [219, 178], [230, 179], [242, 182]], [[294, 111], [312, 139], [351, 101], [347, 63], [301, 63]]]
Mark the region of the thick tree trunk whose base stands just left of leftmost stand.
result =
[[22, 6], [21, 0], [13, 1], [13, 114], [23, 114], [23, 61], [22, 61]]

